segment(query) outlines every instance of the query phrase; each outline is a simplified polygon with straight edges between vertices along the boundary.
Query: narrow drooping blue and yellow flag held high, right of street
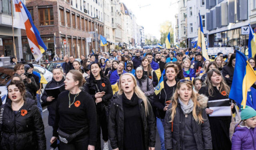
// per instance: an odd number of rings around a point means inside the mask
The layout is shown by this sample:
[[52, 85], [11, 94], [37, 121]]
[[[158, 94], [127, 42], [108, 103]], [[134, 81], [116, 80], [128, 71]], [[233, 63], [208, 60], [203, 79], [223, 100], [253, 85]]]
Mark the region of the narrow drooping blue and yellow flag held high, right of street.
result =
[[199, 28], [198, 28], [198, 40], [197, 40], [197, 46], [199, 49], [201, 49], [201, 54], [203, 55], [203, 58], [205, 60], [209, 60], [209, 56], [206, 50], [206, 46], [205, 46], [205, 40], [204, 40], [204, 35], [203, 35], [203, 24], [202, 24], [202, 19], [201, 19], [201, 15], [199, 14]]

